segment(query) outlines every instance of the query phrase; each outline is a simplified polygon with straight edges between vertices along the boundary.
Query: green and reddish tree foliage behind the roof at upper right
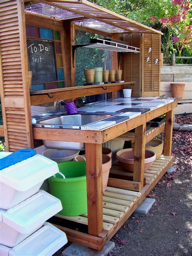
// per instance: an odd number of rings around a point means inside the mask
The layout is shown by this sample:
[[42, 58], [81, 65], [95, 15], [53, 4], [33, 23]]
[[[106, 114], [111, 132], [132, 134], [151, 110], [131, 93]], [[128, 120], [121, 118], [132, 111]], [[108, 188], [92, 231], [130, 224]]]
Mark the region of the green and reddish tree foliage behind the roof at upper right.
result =
[[166, 57], [190, 56], [192, 15], [188, 0], [90, 0], [125, 17], [164, 33], [162, 51]]

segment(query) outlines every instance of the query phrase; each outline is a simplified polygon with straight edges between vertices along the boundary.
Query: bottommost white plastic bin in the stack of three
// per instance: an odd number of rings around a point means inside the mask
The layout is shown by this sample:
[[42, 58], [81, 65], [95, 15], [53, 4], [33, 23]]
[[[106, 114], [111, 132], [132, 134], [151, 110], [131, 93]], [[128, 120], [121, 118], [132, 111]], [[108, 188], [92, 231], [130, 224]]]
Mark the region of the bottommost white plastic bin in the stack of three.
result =
[[45, 222], [42, 228], [13, 248], [0, 245], [1, 256], [50, 256], [67, 243], [66, 234]]

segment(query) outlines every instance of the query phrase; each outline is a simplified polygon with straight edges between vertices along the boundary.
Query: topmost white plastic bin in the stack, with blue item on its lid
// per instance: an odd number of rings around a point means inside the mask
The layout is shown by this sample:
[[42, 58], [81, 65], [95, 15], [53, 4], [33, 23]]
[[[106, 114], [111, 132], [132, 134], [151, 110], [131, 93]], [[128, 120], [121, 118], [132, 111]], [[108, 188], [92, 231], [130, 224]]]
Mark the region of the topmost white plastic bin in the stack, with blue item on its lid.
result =
[[[0, 158], [11, 154], [0, 152]], [[58, 173], [58, 164], [36, 154], [0, 171], [0, 209], [10, 209], [34, 195], [43, 181]]]

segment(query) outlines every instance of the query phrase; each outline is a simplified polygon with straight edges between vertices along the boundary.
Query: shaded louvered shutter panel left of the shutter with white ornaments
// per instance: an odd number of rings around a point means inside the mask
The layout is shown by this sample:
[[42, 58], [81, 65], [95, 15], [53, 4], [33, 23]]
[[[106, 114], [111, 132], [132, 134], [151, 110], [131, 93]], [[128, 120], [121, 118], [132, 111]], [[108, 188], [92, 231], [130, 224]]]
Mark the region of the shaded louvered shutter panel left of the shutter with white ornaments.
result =
[[[141, 34], [126, 34], [123, 41], [130, 46], [141, 49]], [[141, 52], [140, 53], [123, 53], [123, 74], [124, 81], [136, 81], [132, 86], [132, 96], [141, 95]], [[131, 87], [130, 87], [131, 88]]]

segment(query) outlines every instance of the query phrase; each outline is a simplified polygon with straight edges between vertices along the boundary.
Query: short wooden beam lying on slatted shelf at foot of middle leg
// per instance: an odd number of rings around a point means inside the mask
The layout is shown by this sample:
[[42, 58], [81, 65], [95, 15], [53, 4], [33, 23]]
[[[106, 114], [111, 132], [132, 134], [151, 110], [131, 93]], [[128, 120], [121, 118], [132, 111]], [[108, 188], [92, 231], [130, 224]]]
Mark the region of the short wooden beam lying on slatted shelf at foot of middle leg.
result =
[[114, 187], [114, 188], [123, 188], [123, 189], [130, 189], [134, 191], [141, 190], [141, 182], [137, 181], [129, 181], [125, 179], [115, 179], [109, 177], [107, 186]]

